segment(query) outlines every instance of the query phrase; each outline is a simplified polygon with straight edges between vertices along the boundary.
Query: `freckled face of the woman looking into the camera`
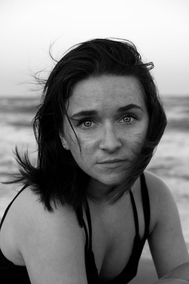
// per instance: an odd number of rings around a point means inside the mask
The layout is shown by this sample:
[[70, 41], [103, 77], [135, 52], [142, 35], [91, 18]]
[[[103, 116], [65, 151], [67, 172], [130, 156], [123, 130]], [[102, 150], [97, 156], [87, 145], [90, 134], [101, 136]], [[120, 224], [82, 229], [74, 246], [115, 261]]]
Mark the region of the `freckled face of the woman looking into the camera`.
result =
[[[139, 153], [148, 128], [142, 87], [131, 76], [103, 75], [78, 82], [69, 97], [62, 142], [79, 167], [104, 185], [116, 185]], [[65, 151], [66, 151], [65, 150]]]

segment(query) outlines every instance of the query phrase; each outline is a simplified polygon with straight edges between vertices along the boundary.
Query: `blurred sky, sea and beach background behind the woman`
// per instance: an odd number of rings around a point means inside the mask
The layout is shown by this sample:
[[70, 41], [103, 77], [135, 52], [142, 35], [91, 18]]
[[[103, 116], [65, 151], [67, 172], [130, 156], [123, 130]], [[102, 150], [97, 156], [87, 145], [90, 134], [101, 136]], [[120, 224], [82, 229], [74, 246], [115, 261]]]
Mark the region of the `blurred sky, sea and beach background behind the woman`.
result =
[[[46, 78], [54, 62], [74, 44], [92, 38], [118, 37], [136, 45], [163, 99], [168, 125], [148, 170], [171, 189], [189, 250], [189, 1], [49, 1], [1, 0], [0, 181], [15, 172], [12, 149], [27, 147], [35, 159], [31, 120], [40, 101], [32, 74]], [[20, 189], [1, 184], [0, 218]], [[140, 280], [139, 280], [140, 279]], [[145, 245], [137, 277], [151, 283], [156, 273]]]

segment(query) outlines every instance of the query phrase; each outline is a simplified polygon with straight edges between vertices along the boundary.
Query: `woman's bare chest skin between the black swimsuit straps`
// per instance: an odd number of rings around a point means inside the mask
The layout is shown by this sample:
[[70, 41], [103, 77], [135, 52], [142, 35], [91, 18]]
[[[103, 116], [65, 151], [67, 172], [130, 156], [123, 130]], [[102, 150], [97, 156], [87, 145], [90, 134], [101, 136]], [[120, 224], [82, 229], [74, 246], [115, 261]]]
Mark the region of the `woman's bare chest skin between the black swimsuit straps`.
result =
[[[145, 233], [145, 217], [141, 202], [136, 202], [139, 221], [139, 235], [143, 239]], [[90, 208], [90, 207], [89, 207]], [[131, 202], [120, 210], [110, 210], [104, 216], [90, 210], [92, 224], [92, 251], [99, 279], [109, 281], [119, 275], [126, 267], [132, 254], [136, 235], [135, 218]], [[84, 221], [88, 230], [86, 214]]]

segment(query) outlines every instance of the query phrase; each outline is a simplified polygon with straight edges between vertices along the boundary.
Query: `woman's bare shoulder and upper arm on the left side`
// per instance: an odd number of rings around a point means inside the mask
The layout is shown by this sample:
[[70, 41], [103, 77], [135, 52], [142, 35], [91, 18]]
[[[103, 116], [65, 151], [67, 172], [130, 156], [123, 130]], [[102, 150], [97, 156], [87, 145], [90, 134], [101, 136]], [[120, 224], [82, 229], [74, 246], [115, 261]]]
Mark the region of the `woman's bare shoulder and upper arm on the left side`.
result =
[[16, 237], [31, 283], [87, 283], [85, 238], [73, 206], [51, 202], [54, 212], [44, 210], [29, 188], [15, 206], [20, 216]]

